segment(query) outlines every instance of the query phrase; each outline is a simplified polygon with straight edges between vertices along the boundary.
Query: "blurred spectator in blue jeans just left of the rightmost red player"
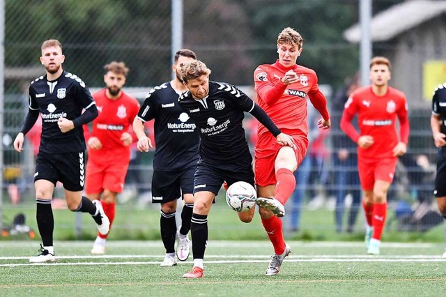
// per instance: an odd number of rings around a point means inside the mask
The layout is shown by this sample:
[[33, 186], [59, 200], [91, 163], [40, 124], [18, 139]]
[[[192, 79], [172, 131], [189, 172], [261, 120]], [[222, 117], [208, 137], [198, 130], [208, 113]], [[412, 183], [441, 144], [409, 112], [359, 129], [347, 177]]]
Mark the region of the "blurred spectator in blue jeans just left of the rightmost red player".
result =
[[[360, 86], [359, 75], [351, 77], [350, 81], [332, 101], [333, 123], [341, 121], [341, 114], [344, 105], [350, 96]], [[335, 221], [336, 231], [341, 232], [343, 225], [344, 208], [346, 197], [351, 195], [350, 212], [348, 213], [347, 232], [353, 232], [357, 218], [357, 212], [361, 203], [360, 179], [357, 174], [357, 153], [356, 144], [341, 132], [338, 128], [332, 135], [333, 145], [333, 175], [334, 175], [334, 195], [336, 197]]]

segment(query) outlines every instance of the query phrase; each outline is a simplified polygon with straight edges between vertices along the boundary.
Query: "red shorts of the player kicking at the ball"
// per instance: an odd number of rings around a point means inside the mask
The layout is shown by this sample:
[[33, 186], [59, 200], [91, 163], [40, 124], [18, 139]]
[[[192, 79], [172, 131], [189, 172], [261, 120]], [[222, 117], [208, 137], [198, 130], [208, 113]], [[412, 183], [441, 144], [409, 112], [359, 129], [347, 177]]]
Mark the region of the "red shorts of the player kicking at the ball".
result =
[[[293, 137], [295, 142], [296, 148], [294, 153], [299, 167], [307, 154], [308, 139], [302, 135], [290, 136]], [[277, 144], [276, 141], [277, 139], [272, 136], [271, 133], [263, 133], [263, 135], [259, 136], [259, 141], [257, 142], [254, 154], [254, 175], [256, 185], [266, 187], [267, 185], [275, 185], [277, 183], [275, 161], [282, 146]]]

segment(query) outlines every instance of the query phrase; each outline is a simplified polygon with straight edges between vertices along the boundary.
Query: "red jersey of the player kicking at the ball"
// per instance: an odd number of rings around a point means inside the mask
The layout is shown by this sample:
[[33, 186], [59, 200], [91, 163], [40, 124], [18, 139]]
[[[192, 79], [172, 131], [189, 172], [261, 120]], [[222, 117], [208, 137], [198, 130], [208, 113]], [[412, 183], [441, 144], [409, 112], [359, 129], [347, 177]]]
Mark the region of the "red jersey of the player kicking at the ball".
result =
[[[297, 73], [299, 81], [289, 85], [279, 82], [289, 70]], [[269, 98], [262, 98], [262, 89], [271, 87], [278, 92], [277, 98], [272, 102]], [[287, 134], [307, 137], [307, 95], [318, 91], [318, 78], [314, 70], [300, 65], [286, 68], [279, 61], [264, 64], [254, 71], [254, 89], [259, 106], [270, 116], [277, 128]], [[269, 131], [259, 124], [259, 135], [266, 132]]]

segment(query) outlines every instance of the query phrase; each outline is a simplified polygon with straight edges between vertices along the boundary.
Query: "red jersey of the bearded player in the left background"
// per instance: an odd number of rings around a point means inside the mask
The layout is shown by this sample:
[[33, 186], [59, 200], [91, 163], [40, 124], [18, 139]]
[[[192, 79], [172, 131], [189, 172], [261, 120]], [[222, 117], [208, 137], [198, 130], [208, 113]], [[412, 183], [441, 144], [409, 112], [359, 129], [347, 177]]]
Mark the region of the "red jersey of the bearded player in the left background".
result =
[[[84, 125], [86, 141], [90, 137], [98, 137], [102, 148], [89, 148], [89, 157], [105, 158], [105, 154], [113, 154], [116, 162], [130, 160], [130, 146], [125, 146], [121, 140], [123, 132], [133, 132], [129, 129], [134, 117], [139, 112], [139, 102], [136, 98], [122, 92], [121, 97], [116, 100], [107, 98], [106, 89], [93, 94], [99, 115], [93, 120], [93, 131], [91, 135], [87, 125]], [[127, 161], [129, 162], [129, 161]]]

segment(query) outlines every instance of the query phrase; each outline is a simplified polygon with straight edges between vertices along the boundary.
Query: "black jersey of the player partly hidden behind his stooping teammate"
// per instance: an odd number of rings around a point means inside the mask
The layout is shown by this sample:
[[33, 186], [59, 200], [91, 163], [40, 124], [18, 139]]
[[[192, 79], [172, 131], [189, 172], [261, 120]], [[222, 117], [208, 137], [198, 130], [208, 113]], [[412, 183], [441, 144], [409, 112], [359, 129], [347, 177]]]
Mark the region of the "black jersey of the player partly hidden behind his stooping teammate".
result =
[[143, 122], [155, 119], [155, 170], [197, 165], [199, 132], [178, 105], [178, 97], [170, 82], [165, 82], [151, 89], [138, 112], [137, 118]]

